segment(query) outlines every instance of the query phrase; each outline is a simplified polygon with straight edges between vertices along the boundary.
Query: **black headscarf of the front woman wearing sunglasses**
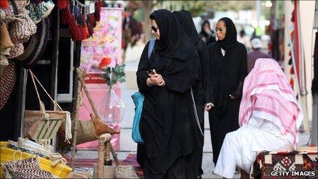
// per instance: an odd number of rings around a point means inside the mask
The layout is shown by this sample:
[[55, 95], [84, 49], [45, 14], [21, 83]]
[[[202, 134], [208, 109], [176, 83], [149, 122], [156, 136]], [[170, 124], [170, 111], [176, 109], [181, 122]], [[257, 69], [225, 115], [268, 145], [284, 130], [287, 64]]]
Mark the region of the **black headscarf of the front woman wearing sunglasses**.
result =
[[197, 52], [175, 16], [169, 10], [155, 10], [149, 16], [160, 30], [154, 50], [159, 56], [188, 60], [196, 58]]

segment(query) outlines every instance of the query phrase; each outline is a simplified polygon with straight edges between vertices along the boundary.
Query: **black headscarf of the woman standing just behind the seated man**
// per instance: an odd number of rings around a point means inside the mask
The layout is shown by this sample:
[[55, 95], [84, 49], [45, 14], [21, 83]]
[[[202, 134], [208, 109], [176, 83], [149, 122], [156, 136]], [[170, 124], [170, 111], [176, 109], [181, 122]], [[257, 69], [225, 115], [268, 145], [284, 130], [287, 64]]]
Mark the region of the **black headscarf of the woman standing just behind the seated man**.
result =
[[223, 40], [217, 40], [222, 49], [232, 49], [238, 43], [236, 27], [233, 21], [228, 17], [223, 17], [219, 21], [223, 21], [226, 27], [225, 38]]

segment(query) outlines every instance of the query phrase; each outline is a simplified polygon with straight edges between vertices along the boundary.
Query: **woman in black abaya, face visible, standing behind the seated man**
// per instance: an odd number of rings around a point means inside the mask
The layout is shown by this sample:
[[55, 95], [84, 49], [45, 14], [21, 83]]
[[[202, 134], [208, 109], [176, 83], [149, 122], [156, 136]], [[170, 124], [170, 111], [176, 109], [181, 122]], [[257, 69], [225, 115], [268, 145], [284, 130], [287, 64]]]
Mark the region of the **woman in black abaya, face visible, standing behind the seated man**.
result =
[[217, 43], [208, 46], [215, 108], [209, 111], [213, 163], [217, 163], [225, 134], [238, 129], [238, 109], [247, 75], [247, 51], [236, 40], [233, 21], [217, 22]]

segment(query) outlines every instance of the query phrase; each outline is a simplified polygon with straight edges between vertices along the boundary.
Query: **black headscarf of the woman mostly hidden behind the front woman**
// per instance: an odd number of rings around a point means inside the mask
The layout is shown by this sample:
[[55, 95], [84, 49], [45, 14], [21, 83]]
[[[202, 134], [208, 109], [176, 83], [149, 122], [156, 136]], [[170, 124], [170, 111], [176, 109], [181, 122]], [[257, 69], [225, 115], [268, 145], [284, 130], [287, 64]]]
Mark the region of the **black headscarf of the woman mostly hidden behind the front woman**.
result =
[[191, 13], [186, 10], [180, 10], [173, 12], [178, 22], [184, 29], [184, 32], [188, 35], [188, 38], [192, 41], [193, 45], [196, 45], [199, 41], [199, 34], [197, 34], [197, 29], [195, 29], [195, 23], [193, 22]]

